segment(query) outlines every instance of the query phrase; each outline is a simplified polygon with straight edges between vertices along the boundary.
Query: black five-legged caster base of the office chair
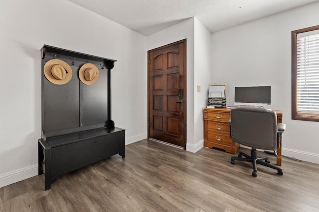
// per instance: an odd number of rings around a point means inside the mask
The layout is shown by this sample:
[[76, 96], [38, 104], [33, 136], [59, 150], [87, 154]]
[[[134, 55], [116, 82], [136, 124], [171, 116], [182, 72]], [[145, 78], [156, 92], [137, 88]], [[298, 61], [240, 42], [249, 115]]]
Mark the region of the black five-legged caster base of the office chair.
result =
[[[244, 156], [244, 157], [242, 157], [242, 156]], [[277, 173], [279, 175], [283, 175], [283, 170], [281, 168], [269, 164], [270, 160], [268, 159], [268, 157], [258, 157], [257, 158], [256, 148], [252, 148], [251, 149], [250, 155], [247, 155], [247, 154], [245, 154], [243, 152], [239, 152], [238, 157], [230, 158], [230, 163], [234, 165], [235, 164], [235, 160], [252, 162], [252, 164], [253, 164], [253, 173], [252, 173], [252, 175], [254, 177], [257, 177], [257, 163], [261, 164], [261, 165], [264, 165], [264, 166], [267, 166], [267, 167], [270, 167], [270, 168], [273, 168], [273, 169], [276, 169]]]

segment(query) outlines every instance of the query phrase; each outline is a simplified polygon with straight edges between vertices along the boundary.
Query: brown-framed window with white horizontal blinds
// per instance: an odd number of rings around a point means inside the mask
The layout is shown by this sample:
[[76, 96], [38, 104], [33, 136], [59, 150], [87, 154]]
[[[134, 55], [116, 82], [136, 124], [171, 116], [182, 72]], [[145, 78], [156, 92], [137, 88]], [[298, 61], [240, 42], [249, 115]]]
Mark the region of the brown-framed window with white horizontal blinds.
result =
[[319, 26], [292, 31], [292, 119], [319, 122]]

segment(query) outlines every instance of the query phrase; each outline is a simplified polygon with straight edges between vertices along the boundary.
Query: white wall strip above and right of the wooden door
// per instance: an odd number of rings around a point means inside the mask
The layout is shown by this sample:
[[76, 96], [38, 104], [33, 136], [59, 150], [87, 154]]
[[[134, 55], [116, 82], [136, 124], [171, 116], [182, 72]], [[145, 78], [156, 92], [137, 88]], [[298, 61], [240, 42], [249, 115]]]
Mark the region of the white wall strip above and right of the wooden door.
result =
[[187, 143], [186, 150], [195, 151], [194, 141], [194, 18], [175, 24], [147, 38], [147, 49], [152, 50], [183, 39], [186, 41], [187, 81]]

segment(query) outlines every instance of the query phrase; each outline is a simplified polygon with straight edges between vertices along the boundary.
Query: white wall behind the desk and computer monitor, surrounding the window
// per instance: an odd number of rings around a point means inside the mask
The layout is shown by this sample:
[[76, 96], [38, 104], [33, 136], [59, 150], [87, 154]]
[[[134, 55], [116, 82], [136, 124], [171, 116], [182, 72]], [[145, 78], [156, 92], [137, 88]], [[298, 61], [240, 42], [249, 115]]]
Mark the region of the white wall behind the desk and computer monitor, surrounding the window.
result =
[[283, 112], [282, 154], [319, 163], [318, 122], [291, 119], [291, 31], [318, 25], [319, 2], [212, 33], [212, 81], [271, 85], [271, 108]]

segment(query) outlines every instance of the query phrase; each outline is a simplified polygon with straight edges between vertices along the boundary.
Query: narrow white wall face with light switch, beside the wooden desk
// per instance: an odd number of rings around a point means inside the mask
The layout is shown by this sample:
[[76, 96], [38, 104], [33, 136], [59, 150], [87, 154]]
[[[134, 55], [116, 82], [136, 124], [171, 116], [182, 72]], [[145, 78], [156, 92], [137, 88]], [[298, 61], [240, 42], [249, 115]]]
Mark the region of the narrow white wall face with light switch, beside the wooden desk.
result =
[[[194, 144], [195, 150], [204, 146], [203, 110], [207, 105], [208, 89], [212, 78], [211, 33], [194, 18]], [[197, 85], [200, 92], [197, 92]]]

